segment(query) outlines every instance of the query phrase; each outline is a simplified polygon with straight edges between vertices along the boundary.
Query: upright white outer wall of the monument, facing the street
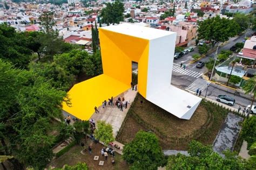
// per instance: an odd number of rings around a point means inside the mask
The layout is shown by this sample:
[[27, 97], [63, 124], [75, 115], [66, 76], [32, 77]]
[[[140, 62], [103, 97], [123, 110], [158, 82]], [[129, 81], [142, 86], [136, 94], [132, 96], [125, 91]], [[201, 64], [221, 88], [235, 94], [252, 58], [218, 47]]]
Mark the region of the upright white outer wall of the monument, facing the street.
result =
[[149, 65], [147, 72], [147, 96], [156, 89], [170, 86], [176, 33], [150, 40]]

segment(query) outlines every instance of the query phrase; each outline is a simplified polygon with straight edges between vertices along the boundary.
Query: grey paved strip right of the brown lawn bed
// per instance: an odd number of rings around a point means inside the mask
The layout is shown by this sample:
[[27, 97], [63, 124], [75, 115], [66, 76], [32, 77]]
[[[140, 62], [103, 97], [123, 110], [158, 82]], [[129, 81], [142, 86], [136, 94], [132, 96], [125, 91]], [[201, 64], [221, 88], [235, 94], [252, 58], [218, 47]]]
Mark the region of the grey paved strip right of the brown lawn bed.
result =
[[237, 141], [241, 126], [238, 124], [243, 118], [240, 116], [229, 113], [226, 120], [221, 127], [217, 137], [213, 142], [213, 151], [219, 153], [224, 157], [223, 151], [233, 151], [235, 141]]

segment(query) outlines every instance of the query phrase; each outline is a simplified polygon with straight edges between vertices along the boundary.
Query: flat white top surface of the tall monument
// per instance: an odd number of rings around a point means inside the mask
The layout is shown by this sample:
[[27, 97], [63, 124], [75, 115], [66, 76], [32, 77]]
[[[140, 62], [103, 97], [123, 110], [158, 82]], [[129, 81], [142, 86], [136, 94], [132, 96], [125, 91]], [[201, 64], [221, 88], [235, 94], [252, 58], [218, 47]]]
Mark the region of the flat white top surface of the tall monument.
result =
[[125, 34], [127, 36], [138, 37], [143, 39], [156, 39], [164, 36], [168, 36], [171, 34], [175, 34], [174, 32], [152, 29], [149, 27], [143, 27], [133, 24], [119, 24], [119, 25], [111, 25], [101, 27], [100, 29], [118, 32], [121, 34]]

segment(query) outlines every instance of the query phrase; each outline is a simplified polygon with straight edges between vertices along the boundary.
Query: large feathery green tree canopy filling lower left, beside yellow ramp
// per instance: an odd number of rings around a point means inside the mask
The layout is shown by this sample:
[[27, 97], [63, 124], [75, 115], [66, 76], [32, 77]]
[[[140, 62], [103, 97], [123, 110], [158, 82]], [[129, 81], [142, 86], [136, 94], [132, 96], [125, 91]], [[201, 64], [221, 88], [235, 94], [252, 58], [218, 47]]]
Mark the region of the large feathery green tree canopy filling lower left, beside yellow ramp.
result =
[[[25, 166], [42, 169], [51, 160], [50, 119], [61, 118], [65, 91], [52, 88], [42, 76], [14, 68], [0, 59], [1, 152]], [[35, 147], [36, 146], [36, 147]]]

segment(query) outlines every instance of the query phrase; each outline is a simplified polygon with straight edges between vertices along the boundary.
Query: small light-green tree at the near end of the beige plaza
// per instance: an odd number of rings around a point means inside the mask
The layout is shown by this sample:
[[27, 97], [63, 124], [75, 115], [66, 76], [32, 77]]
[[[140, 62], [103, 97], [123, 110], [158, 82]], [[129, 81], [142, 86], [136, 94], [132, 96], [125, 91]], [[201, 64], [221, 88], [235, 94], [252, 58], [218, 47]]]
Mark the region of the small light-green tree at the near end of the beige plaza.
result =
[[97, 122], [97, 129], [95, 130], [95, 138], [102, 141], [105, 146], [114, 141], [113, 128], [105, 121]]

